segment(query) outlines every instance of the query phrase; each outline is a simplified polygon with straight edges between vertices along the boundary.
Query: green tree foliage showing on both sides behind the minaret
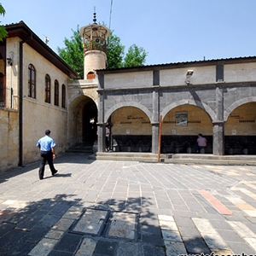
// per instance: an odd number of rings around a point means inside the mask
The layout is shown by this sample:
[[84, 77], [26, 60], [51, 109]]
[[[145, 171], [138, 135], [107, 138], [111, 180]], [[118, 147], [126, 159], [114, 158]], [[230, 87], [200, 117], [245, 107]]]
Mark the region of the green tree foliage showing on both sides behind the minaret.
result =
[[[72, 30], [73, 31], [73, 30]], [[57, 48], [58, 54], [63, 61], [79, 73], [79, 79], [84, 78], [84, 46], [83, 38], [79, 34], [79, 26], [73, 31], [71, 39], [65, 38], [65, 48]], [[148, 53], [143, 47], [132, 44], [125, 55], [125, 46], [121, 44], [118, 36], [110, 32], [108, 37], [107, 49], [107, 69], [119, 67], [138, 67], [143, 66]]]

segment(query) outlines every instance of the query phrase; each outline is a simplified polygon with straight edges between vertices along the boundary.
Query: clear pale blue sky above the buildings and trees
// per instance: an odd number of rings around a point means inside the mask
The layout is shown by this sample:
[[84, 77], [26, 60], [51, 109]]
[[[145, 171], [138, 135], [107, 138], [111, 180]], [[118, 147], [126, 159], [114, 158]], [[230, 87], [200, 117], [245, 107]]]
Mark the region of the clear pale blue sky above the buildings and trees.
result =
[[23, 20], [56, 53], [79, 26], [103, 23], [148, 53], [145, 65], [256, 55], [256, 0], [1, 0], [1, 25]]

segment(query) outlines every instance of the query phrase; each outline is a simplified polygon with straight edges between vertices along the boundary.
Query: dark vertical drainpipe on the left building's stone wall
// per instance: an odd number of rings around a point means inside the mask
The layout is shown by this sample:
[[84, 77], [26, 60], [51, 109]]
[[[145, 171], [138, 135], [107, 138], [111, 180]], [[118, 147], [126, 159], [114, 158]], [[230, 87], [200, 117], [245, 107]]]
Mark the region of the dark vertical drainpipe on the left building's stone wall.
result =
[[20, 41], [20, 72], [19, 72], [19, 165], [23, 167], [23, 43]]

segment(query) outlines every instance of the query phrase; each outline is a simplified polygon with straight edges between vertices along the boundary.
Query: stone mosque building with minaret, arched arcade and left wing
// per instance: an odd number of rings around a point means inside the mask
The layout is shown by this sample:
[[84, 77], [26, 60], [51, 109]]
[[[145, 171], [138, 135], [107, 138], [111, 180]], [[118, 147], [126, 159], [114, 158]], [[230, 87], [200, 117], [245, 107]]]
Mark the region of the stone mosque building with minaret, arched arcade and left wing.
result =
[[0, 170], [39, 160], [49, 129], [57, 154], [256, 154], [256, 57], [106, 69], [109, 29], [83, 26], [84, 79], [23, 22], [0, 42]]

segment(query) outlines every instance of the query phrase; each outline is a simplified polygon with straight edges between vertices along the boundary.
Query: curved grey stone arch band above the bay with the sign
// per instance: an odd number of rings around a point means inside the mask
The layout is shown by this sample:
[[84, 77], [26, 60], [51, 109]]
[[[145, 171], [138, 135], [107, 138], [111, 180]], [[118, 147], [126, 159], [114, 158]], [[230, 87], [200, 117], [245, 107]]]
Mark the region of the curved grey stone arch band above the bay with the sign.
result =
[[202, 110], [206, 111], [209, 115], [211, 121], [216, 118], [216, 113], [210, 108], [207, 104], [199, 101], [192, 101], [191, 99], [183, 99], [181, 101], [172, 102], [172, 104], [166, 106], [161, 112], [160, 115], [162, 115], [162, 118], [164, 119], [166, 116], [166, 113], [172, 110], [172, 108], [176, 108], [181, 105], [193, 105], [195, 107], [201, 108]]

